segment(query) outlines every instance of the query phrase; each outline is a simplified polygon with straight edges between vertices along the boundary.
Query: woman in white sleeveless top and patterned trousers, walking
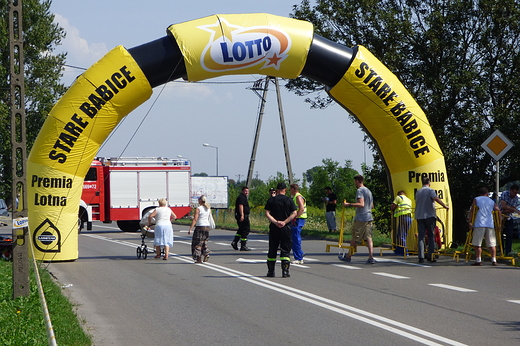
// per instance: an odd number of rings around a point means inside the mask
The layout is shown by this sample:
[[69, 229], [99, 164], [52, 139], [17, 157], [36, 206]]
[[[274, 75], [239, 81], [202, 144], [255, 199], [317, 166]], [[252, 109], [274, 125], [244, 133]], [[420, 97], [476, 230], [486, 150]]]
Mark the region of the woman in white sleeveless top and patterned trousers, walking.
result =
[[211, 208], [206, 201], [206, 196], [199, 197], [199, 206], [195, 209], [195, 215], [191, 222], [188, 234], [193, 230], [193, 238], [191, 241], [191, 254], [195, 263], [206, 262], [209, 259], [208, 239], [211, 215]]

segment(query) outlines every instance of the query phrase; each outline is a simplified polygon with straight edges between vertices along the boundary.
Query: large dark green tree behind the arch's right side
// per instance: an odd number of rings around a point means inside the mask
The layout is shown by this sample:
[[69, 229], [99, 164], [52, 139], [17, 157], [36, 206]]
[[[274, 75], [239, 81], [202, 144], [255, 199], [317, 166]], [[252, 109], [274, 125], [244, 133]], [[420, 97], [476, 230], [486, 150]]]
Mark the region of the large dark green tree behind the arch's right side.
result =
[[[294, 7], [317, 34], [364, 45], [389, 67], [428, 116], [445, 155], [454, 236], [480, 185], [494, 186], [493, 160], [481, 143], [500, 129], [516, 145], [500, 162], [502, 183], [519, 179], [520, 3], [515, 0], [318, 0]], [[300, 95], [323, 87], [303, 78]], [[319, 93], [314, 107], [331, 102]], [[377, 149], [377, 148], [376, 148]], [[379, 164], [379, 163], [378, 163]], [[377, 174], [376, 174], [377, 175]], [[382, 175], [384, 176], [384, 175]]]

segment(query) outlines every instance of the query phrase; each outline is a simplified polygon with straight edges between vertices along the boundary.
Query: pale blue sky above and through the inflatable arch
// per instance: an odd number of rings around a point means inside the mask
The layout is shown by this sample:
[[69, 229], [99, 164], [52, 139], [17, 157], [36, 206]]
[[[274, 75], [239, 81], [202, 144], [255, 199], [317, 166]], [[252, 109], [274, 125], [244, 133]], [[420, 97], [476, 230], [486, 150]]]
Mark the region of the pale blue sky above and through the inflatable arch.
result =
[[[286, 0], [52, 0], [55, 21], [67, 38], [58, 51], [68, 52], [67, 65], [88, 68], [117, 45], [132, 48], [166, 34], [166, 28], [213, 14], [270, 13], [288, 17], [294, 4]], [[66, 68], [66, 85], [81, 74]], [[170, 82], [154, 89], [150, 100], [129, 114], [103, 144], [98, 156], [163, 156], [189, 158], [193, 173], [245, 180], [253, 147], [260, 99], [247, 89], [262, 75], [228, 76], [207, 83]], [[281, 85], [285, 82], [279, 81]], [[363, 133], [338, 105], [313, 110], [304, 98], [285, 91], [282, 104], [293, 173], [296, 179], [323, 158], [353, 168], [372, 163]], [[134, 136], [135, 134], [135, 136]], [[133, 136], [133, 138], [132, 138]], [[267, 96], [254, 175], [262, 180], [286, 174], [274, 85]]]

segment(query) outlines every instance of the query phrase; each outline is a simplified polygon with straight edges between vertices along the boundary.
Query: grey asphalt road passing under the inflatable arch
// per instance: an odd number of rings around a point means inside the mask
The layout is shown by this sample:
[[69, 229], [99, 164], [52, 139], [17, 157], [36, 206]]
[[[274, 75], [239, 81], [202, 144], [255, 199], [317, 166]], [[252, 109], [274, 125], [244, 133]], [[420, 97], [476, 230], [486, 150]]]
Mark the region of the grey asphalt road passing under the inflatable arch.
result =
[[[210, 260], [194, 264], [187, 227], [176, 225], [170, 259], [137, 259], [140, 233], [94, 225], [80, 258], [48, 263], [78, 303], [95, 345], [514, 345], [520, 340], [520, 271], [441, 257], [419, 265], [388, 251], [351, 263], [331, 242], [304, 240], [305, 264], [266, 278], [267, 236], [253, 251], [234, 232], [211, 231]], [[151, 240], [147, 240], [151, 246]]]

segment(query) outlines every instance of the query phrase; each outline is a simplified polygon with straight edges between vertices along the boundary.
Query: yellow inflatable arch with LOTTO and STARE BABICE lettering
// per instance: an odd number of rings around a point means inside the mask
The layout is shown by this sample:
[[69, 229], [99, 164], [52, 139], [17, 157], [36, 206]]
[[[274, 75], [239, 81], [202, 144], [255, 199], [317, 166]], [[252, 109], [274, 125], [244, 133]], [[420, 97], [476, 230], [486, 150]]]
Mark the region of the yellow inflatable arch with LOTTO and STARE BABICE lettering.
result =
[[[83, 179], [100, 145], [151, 96], [152, 88], [178, 78], [199, 81], [230, 74], [303, 75], [323, 83], [377, 144], [394, 192], [413, 196], [426, 175], [450, 204], [444, 157], [424, 112], [367, 49], [324, 39], [300, 20], [263, 13], [214, 15], [172, 25], [166, 36], [138, 47], [114, 48], [54, 106], [27, 165], [37, 259], [78, 258]], [[338, 145], [350, 148], [346, 138], [338, 138]], [[450, 224], [446, 233], [451, 235]]]

